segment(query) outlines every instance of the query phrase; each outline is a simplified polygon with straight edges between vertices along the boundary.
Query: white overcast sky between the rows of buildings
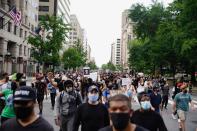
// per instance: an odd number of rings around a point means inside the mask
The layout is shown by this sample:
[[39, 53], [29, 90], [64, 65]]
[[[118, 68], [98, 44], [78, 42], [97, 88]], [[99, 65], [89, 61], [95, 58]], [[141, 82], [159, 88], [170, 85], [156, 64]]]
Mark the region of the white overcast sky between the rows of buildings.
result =
[[[76, 14], [86, 30], [91, 56], [101, 67], [110, 60], [111, 43], [121, 38], [121, 14], [134, 3], [148, 6], [151, 0], [70, 0], [71, 14]], [[159, 0], [165, 5], [173, 0]]]

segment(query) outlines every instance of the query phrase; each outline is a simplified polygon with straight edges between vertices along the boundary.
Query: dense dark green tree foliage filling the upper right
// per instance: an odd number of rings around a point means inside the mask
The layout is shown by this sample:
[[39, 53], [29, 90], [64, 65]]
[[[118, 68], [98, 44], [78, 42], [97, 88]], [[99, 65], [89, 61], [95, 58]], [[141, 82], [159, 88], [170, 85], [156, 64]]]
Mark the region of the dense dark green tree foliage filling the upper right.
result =
[[[136, 40], [129, 43], [130, 66], [136, 70], [169, 67], [175, 74], [182, 70], [192, 74], [197, 64], [197, 1], [174, 0], [169, 7], [154, 2], [130, 9], [135, 22]], [[160, 71], [160, 72], [161, 72]], [[161, 72], [162, 73], [162, 72]]]

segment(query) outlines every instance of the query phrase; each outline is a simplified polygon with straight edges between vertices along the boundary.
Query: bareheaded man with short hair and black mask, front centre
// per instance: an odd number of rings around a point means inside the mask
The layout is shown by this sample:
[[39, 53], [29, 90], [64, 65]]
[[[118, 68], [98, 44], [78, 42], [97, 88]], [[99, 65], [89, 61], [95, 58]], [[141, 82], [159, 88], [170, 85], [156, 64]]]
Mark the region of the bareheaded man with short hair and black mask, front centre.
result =
[[149, 131], [129, 121], [132, 116], [131, 102], [124, 94], [110, 97], [108, 111], [111, 125], [99, 131]]

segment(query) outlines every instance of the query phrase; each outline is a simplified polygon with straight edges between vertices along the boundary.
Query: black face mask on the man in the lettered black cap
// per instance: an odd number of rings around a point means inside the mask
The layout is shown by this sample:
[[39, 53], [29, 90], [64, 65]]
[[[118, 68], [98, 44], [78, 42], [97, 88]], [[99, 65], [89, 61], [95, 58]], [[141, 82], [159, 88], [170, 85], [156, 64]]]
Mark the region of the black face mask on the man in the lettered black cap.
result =
[[33, 112], [33, 107], [14, 107], [14, 111], [16, 114], [16, 118], [18, 119], [26, 119], [28, 118], [31, 113]]

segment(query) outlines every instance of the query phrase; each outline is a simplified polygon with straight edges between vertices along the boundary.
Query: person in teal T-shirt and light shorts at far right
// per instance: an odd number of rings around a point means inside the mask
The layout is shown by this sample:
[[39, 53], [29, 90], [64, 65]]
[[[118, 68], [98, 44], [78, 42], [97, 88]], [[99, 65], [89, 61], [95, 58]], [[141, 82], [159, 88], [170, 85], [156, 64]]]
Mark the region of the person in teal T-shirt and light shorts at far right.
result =
[[186, 131], [185, 121], [187, 117], [187, 112], [189, 110], [189, 103], [191, 104], [192, 110], [194, 109], [194, 104], [192, 102], [192, 97], [189, 93], [187, 93], [187, 83], [183, 83], [180, 87], [182, 92], [176, 94], [173, 103], [173, 110], [177, 110], [179, 129], [180, 131]]

